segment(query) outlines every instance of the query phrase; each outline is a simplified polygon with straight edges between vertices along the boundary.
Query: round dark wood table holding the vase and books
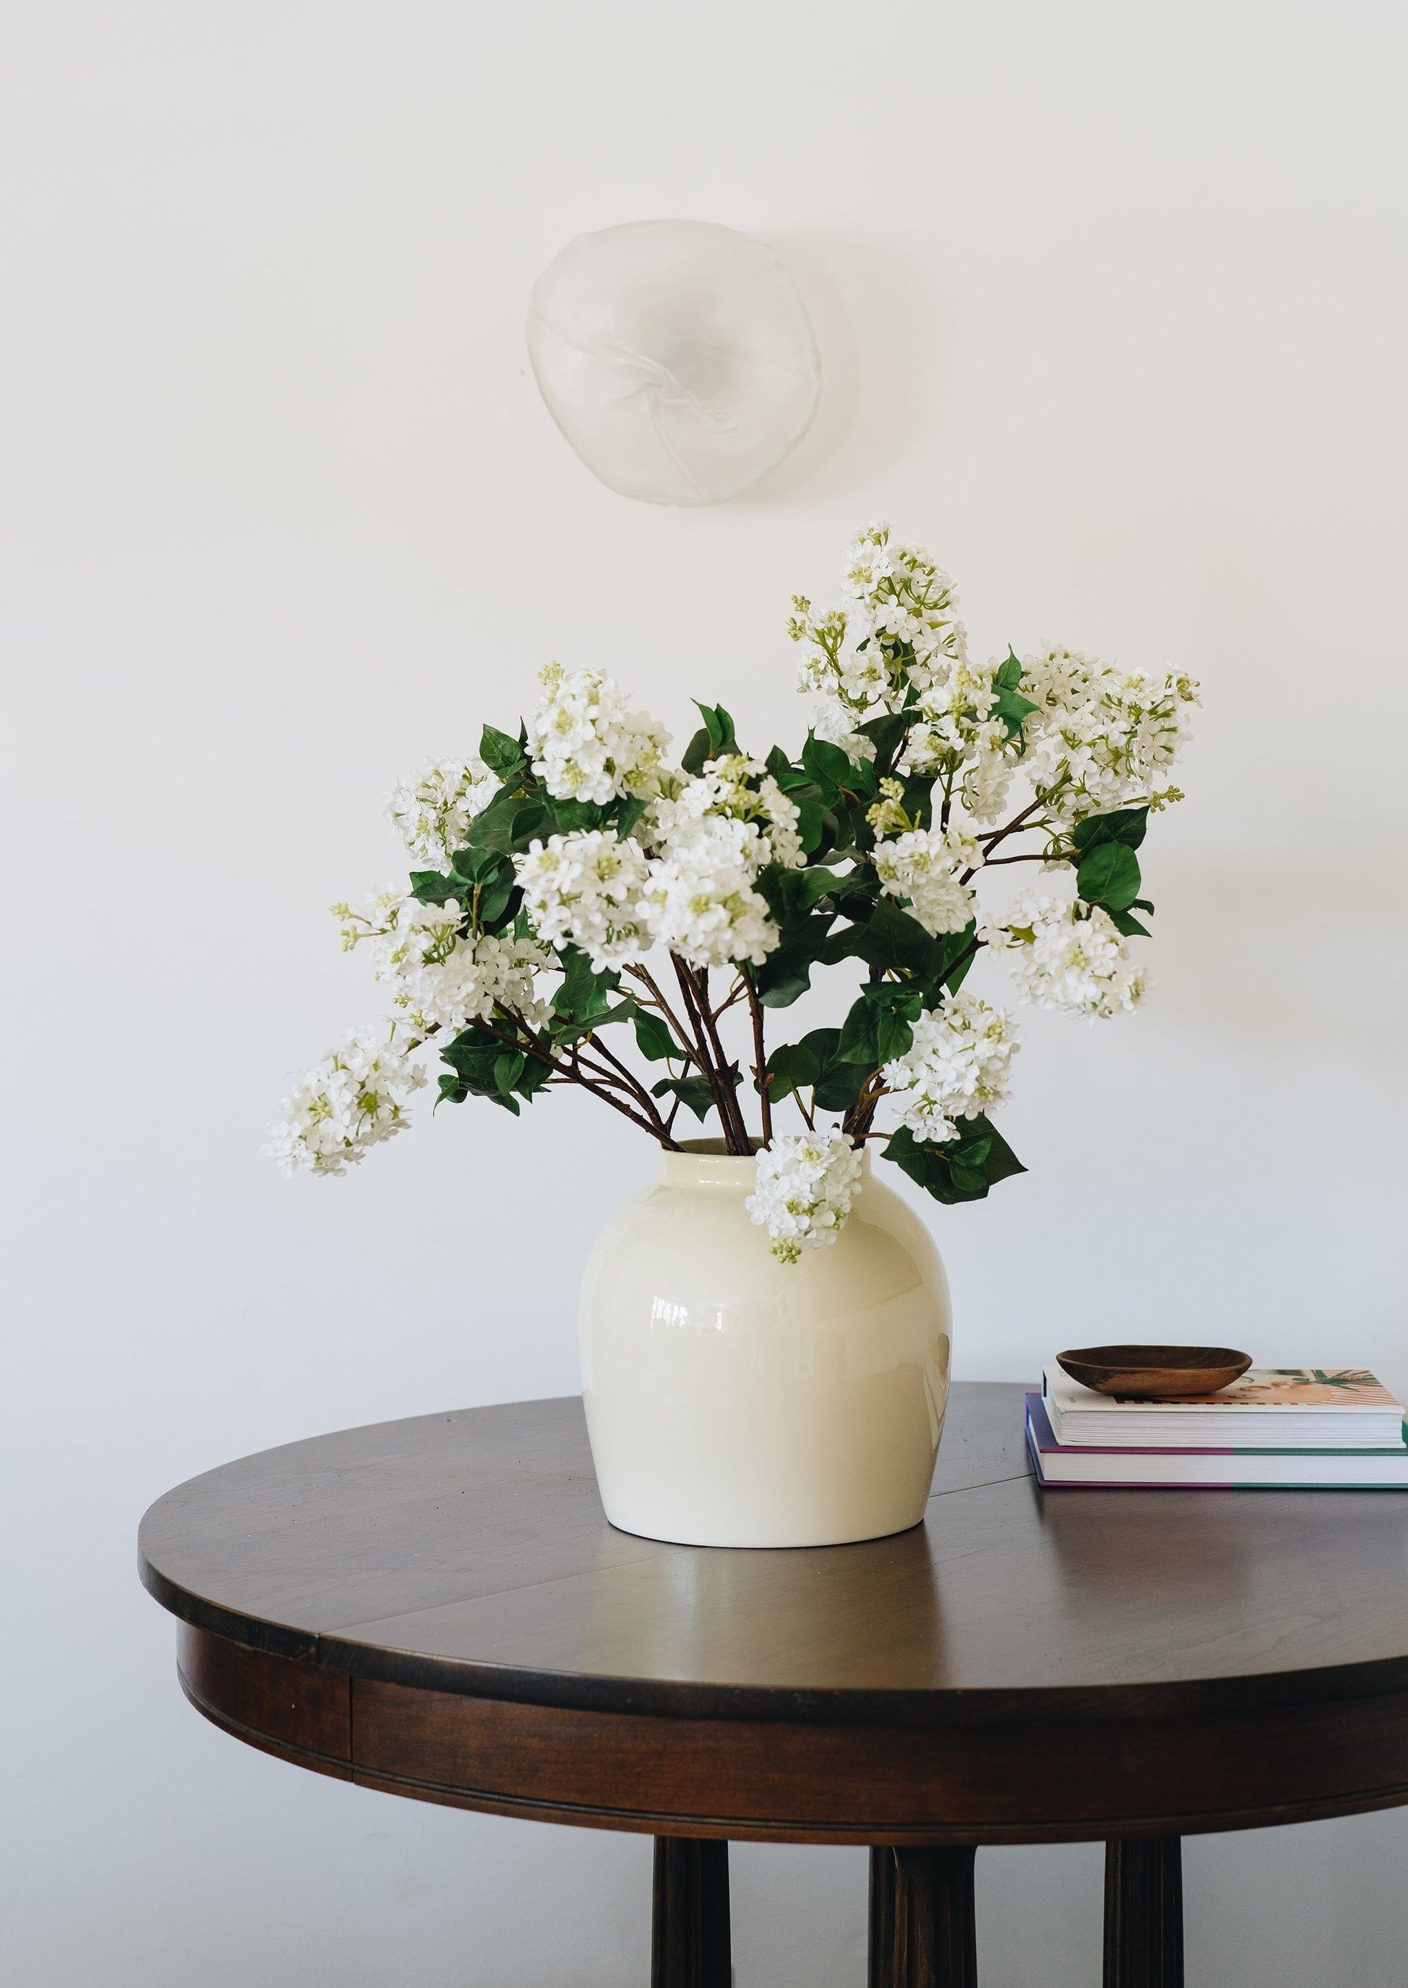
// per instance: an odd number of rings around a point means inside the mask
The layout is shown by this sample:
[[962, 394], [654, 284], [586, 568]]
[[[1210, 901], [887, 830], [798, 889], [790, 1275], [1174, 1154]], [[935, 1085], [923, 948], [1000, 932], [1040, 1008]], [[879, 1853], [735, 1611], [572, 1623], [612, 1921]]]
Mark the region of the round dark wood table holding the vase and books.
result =
[[618, 1533], [560, 1400], [226, 1463], [141, 1578], [250, 1745], [653, 1835], [655, 1988], [727, 1988], [731, 1837], [872, 1847], [872, 1988], [975, 1980], [975, 1847], [1104, 1841], [1106, 1988], [1172, 1988], [1182, 1835], [1408, 1801], [1408, 1499], [1043, 1495], [1011, 1386], [868, 1545]]

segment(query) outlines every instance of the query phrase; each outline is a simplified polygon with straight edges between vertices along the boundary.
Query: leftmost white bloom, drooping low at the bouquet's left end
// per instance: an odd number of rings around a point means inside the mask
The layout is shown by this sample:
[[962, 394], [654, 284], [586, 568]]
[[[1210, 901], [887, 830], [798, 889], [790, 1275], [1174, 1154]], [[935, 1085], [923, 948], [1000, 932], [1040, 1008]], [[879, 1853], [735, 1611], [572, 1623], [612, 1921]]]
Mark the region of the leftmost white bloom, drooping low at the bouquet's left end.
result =
[[405, 1131], [405, 1099], [425, 1083], [385, 1024], [353, 1028], [280, 1103], [264, 1153], [284, 1173], [346, 1173], [367, 1147]]

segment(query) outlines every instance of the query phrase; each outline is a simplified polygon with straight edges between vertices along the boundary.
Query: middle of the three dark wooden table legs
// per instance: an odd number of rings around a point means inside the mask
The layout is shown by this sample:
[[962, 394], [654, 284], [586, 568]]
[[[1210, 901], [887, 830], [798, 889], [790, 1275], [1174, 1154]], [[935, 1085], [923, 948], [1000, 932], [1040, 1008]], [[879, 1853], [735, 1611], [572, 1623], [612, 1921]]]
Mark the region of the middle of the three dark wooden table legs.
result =
[[975, 1855], [870, 1853], [870, 1988], [977, 1988]]

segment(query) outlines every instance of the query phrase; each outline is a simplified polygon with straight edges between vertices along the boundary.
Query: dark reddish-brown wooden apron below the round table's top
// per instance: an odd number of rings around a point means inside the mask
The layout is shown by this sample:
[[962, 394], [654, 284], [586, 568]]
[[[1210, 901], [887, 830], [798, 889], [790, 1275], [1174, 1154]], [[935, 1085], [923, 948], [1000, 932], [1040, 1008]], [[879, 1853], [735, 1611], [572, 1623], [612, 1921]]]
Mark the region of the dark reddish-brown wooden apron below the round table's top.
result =
[[651, 1835], [1049, 1843], [1408, 1801], [1408, 1692], [1118, 1722], [832, 1726], [576, 1712], [350, 1678], [181, 1624], [193, 1704], [367, 1787]]

